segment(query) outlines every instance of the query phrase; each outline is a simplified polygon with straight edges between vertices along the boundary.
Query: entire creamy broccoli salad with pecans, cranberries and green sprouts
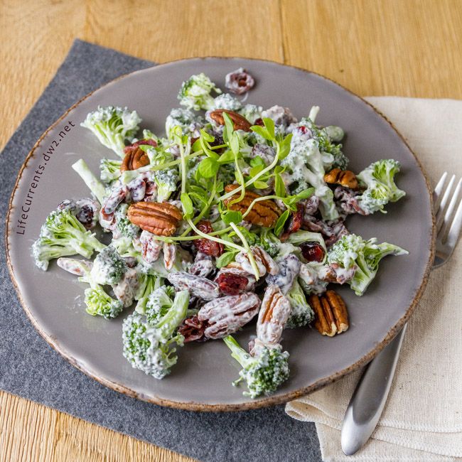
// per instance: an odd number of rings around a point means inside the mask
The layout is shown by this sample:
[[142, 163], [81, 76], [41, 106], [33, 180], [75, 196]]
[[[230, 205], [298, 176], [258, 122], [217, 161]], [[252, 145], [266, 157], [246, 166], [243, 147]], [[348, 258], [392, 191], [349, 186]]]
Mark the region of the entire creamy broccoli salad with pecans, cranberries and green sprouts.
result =
[[[85, 284], [87, 313], [127, 315], [133, 367], [162, 379], [183, 345], [222, 339], [242, 367], [233, 385], [245, 382], [252, 398], [288, 380], [290, 329], [348, 329], [335, 284], [362, 296], [383, 257], [407, 254], [345, 224], [404, 196], [399, 163], [349, 171], [343, 129], [316, 124], [319, 107], [297, 119], [246, 104], [254, 85], [242, 68], [225, 76], [227, 92], [191, 76], [158, 134], [127, 107], [90, 112], [81, 126], [107, 158], [99, 175], [83, 159], [72, 166], [88, 192], [63, 200], [32, 247], [38, 268], [57, 259]], [[249, 323], [243, 348], [232, 334]]]

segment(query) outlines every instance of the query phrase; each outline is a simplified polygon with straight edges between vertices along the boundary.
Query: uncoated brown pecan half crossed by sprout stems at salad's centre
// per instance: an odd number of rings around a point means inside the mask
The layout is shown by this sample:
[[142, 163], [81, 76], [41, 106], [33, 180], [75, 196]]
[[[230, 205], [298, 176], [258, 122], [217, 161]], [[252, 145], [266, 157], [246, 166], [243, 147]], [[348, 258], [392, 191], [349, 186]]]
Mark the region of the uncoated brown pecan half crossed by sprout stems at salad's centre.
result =
[[[225, 191], [230, 193], [236, 188], [239, 188], [239, 185], [227, 185]], [[232, 201], [232, 198], [230, 198], [223, 200], [223, 203], [227, 205], [230, 210], [245, 213], [250, 207], [250, 204], [252, 204], [255, 199], [261, 197], [262, 196], [257, 193], [246, 190], [244, 198], [239, 202], [230, 204]], [[261, 200], [254, 204], [252, 210], [250, 210], [249, 214], [245, 217], [245, 220], [251, 222], [253, 225], [273, 227], [279, 215], [281, 215], [281, 210], [272, 200]]]

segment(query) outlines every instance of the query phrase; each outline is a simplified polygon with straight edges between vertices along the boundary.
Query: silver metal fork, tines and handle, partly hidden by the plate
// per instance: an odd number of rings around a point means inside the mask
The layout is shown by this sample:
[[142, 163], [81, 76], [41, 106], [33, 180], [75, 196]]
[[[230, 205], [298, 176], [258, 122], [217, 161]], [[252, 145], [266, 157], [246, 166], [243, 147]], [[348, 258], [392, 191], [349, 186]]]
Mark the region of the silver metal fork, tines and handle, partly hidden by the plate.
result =
[[[432, 269], [441, 267], [448, 261], [462, 230], [462, 200], [459, 198], [462, 178], [455, 190], [456, 176], [453, 175], [446, 186], [447, 178], [448, 173], [444, 172], [433, 193], [437, 234]], [[362, 448], [377, 426], [390, 392], [406, 327], [407, 324], [367, 365], [356, 386], [343, 418], [340, 440], [342, 450], [347, 456]]]

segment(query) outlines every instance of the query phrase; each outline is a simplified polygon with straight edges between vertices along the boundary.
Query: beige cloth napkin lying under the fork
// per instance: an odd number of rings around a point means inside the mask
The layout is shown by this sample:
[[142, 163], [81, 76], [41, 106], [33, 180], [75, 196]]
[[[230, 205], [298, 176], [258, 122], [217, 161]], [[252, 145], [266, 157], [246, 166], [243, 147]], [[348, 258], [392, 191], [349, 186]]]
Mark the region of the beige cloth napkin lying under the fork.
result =
[[[369, 97], [402, 133], [429, 175], [462, 176], [462, 101]], [[462, 242], [431, 272], [409, 321], [385, 411], [354, 456], [340, 448], [343, 415], [360, 372], [286, 404], [316, 423], [324, 461], [453, 461], [462, 457]]]

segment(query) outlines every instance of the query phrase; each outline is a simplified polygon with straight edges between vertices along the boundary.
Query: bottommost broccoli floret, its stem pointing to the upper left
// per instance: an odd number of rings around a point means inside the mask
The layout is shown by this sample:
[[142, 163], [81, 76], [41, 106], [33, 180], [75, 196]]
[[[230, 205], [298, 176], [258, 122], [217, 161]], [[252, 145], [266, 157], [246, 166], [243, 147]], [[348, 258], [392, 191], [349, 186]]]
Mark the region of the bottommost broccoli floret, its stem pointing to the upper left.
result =
[[227, 335], [223, 340], [230, 348], [232, 358], [242, 366], [239, 372], [240, 379], [233, 385], [245, 380], [249, 389], [243, 393], [245, 396], [257, 398], [261, 394], [270, 394], [289, 378], [289, 353], [282, 351], [280, 345], [274, 348], [264, 346], [256, 356], [251, 356], [231, 335]]

